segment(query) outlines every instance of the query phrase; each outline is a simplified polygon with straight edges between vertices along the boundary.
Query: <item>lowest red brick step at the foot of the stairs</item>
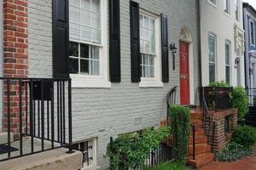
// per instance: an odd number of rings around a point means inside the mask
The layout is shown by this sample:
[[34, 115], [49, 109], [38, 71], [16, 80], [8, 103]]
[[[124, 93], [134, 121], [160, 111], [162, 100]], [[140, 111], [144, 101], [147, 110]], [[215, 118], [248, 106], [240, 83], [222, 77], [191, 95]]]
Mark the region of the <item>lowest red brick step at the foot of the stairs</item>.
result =
[[193, 160], [192, 156], [189, 156], [187, 158], [186, 164], [188, 166], [198, 168], [212, 161], [214, 161], [214, 154], [207, 153], [207, 154], [201, 154], [200, 156], [195, 156], [195, 160]]

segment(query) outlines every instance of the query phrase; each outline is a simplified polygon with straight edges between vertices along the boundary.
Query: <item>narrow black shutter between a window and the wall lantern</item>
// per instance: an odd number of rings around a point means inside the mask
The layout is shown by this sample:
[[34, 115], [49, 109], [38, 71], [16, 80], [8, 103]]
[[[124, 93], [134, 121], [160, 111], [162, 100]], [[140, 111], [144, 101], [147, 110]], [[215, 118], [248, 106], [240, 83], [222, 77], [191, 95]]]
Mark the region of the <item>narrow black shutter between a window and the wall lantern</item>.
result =
[[162, 81], [169, 82], [168, 19], [166, 14], [161, 14], [161, 44]]

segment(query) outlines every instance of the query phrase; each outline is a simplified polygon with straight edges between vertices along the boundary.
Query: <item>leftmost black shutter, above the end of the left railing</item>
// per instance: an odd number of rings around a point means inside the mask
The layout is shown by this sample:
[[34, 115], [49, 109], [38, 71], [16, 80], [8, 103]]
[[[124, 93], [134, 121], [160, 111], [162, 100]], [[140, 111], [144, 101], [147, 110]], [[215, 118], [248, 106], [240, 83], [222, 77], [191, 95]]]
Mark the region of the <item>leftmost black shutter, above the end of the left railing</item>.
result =
[[53, 75], [69, 77], [68, 0], [53, 0]]

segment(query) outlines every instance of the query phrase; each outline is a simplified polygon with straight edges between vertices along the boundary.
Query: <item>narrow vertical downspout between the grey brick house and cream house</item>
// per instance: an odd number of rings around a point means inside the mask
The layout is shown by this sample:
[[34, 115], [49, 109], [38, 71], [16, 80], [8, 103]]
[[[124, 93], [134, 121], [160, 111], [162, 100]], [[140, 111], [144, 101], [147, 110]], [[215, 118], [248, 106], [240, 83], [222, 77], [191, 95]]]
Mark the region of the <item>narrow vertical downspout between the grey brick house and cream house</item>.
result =
[[198, 67], [199, 67], [199, 87], [202, 87], [202, 75], [201, 75], [201, 0], [197, 1], [197, 11], [198, 11]]

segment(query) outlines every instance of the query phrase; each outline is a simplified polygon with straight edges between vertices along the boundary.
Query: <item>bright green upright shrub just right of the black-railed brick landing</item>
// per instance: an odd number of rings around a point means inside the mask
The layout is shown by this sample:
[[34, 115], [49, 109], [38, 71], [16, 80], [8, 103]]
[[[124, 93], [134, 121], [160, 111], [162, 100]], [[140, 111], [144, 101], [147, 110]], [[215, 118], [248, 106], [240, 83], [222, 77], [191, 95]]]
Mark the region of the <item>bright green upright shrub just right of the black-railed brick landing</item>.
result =
[[233, 107], [238, 109], [238, 121], [242, 122], [248, 111], [248, 96], [244, 88], [236, 87], [233, 90]]

